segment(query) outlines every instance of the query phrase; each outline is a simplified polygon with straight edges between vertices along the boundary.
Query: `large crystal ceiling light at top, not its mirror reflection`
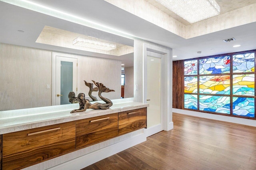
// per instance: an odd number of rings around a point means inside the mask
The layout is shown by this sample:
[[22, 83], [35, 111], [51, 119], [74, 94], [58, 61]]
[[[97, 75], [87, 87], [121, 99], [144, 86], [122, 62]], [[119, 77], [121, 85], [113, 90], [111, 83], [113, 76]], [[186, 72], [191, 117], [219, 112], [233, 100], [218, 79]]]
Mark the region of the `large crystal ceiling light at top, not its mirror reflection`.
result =
[[155, 0], [189, 23], [211, 18], [220, 14], [215, 0]]

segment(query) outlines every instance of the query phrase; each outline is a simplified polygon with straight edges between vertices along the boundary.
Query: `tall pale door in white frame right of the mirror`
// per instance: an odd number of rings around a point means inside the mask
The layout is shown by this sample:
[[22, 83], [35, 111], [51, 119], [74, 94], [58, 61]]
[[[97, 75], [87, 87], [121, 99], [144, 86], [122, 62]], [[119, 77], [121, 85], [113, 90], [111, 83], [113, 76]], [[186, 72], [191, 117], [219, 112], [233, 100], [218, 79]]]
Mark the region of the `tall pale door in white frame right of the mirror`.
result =
[[161, 58], [147, 56], [146, 102], [147, 109], [147, 136], [163, 130], [163, 114], [161, 105]]

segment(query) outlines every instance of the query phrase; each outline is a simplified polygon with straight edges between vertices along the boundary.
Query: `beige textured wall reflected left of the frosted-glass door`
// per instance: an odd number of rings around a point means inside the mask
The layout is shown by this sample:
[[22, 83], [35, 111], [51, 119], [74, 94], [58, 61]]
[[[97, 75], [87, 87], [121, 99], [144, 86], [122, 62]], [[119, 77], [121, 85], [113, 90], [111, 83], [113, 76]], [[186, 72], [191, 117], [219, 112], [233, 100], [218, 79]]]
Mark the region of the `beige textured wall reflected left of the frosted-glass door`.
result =
[[0, 43], [0, 111], [52, 105], [52, 52]]

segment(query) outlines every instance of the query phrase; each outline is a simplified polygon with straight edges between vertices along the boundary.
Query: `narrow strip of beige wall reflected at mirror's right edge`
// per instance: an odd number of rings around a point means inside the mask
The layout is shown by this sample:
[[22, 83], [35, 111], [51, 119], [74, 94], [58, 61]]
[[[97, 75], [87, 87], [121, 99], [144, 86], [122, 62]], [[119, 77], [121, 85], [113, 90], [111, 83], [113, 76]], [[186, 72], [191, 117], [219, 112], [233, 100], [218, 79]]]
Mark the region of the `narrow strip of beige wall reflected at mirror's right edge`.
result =
[[133, 67], [125, 68], [125, 82], [124, 82], [124, 98], [133, 98], [134, 93], [134, 74]]

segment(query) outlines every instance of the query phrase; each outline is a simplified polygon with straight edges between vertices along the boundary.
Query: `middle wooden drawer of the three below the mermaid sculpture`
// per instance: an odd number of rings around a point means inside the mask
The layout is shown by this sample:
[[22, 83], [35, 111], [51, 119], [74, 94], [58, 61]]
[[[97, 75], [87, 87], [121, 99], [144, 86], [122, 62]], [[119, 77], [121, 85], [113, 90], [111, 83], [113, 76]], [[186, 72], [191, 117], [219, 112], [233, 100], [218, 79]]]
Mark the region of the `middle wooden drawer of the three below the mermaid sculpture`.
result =
[[76, 121], [76, 149], [118, 135], [118, 113]]

